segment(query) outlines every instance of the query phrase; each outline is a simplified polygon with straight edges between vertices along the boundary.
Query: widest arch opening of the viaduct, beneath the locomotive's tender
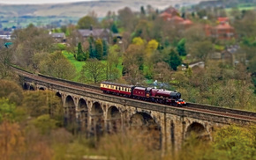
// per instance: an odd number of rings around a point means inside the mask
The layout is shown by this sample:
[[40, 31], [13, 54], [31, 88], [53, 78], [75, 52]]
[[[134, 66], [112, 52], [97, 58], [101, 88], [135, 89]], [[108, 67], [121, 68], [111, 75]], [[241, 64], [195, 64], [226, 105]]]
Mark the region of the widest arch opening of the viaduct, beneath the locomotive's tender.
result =
[[[161, 149], [162, 133], [161, 127], [148, 113], [135, 113], [130, 120], [131, 127], [139, 129], [139, 132], [146, 136], [146, 142], [154, 149]], [[144, 133], [145, 132], [145, 133]]]

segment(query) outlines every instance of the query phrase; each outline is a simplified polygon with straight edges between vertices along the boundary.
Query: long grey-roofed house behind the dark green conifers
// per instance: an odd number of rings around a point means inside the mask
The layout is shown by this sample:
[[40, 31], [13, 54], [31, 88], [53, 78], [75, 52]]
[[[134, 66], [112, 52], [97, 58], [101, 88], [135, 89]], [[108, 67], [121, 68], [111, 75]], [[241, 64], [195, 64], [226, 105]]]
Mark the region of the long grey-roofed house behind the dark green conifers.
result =
[[84, 40], [93, 37], [94, 39], [102, 39], [110, 42], [112, 38], [112, 33], [109, 29], [79, 29], [78, 32]]

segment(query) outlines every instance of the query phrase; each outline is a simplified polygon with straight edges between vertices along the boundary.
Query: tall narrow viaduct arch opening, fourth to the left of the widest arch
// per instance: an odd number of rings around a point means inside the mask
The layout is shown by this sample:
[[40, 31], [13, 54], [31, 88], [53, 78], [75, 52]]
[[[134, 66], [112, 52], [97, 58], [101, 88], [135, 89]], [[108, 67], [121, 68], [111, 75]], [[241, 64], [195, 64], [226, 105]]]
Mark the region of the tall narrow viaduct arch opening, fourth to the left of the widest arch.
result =
[[64, 104], [65, 122], [67, 122], [67, 123], [74, 122], [75, 119], [76, 119], [76, 114], [75, 113], [76, 113], [75, 102], [74, 102], [72, 96], [67, 96], [65, 98], [65, 104]]

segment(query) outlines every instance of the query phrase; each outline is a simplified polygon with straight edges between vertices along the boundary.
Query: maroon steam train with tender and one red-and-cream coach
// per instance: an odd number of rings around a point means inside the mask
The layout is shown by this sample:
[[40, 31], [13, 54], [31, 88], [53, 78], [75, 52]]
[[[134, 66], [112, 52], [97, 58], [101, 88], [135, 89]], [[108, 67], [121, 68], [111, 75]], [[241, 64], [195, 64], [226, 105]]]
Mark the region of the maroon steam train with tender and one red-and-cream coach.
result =
[[101, 90], [108, 94], [136, 98], [160, 104], [186, 105], [185, 101], [181, 99], [181, 94], [177, 91], [166, 91], [162, 89], [154, 89], [152, 87], [138, 87], [135, 85], [115, 84], [111, 82], [102, 82]]

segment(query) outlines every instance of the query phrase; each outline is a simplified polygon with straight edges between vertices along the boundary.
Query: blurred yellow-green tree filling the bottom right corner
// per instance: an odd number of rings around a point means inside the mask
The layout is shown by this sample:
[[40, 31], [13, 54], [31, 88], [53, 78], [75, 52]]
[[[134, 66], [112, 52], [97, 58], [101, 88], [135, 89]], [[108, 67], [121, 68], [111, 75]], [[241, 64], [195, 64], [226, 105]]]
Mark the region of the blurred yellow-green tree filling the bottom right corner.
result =
[[215, 135], [212, 155], [222, 155], [223, 159], [255, 159], [256, 127], [227, 126]]

